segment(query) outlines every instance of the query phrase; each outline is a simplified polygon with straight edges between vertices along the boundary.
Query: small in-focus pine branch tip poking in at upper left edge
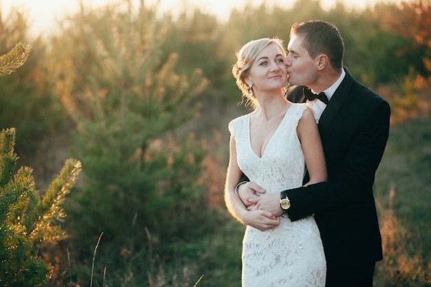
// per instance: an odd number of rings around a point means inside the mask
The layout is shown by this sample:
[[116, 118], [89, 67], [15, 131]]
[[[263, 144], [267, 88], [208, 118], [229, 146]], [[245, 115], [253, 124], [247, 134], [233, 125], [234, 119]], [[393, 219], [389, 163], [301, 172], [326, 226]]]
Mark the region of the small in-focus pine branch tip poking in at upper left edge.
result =
[[17, 43], [7, 54], [0, 56], [0, 76], [11, 74], [27, 61], [31, 47], [25, 43]]

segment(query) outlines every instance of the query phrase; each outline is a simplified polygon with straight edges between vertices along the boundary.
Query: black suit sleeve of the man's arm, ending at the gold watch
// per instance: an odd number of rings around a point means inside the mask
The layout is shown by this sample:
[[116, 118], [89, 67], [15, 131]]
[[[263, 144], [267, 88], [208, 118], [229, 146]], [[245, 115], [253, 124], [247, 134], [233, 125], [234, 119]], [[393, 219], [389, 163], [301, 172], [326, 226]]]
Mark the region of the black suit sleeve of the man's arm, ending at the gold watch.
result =
[[328, 182], [283, 191], [291, 201], [289, 218], [299, 220], [314, 213], [374, 204], [372, 184], [388, 140], [389, 120], [390, 107], [381, 100], [360, 123], [343, 162]]

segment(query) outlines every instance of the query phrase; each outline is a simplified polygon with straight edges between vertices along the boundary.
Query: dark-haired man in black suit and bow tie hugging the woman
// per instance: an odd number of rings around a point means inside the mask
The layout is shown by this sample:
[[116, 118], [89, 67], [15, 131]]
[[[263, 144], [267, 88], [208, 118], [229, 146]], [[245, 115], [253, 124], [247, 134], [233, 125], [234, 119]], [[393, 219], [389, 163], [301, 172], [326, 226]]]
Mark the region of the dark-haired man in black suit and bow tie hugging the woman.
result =
[[[240, 182], [238, 194], [249, 209], [287, 213], [293, 221], [315, 216], [328, 266], [326, 287], [372, 287], [375, 262], [383, 257], [372, 185], [388, 140], [390, 107], [343, 67], [344, 43], [333, 24], [294, 24], [288, 51], [289, 83], [324, 92], [329, 100], [326, 107], [317, 98], [310, 102], [313, 110], [323, 105], [314, 111], [321, 114], [328, 182], [280, 195]], [[287, 96], [302, 102], [302, 87], [291, 87]]]

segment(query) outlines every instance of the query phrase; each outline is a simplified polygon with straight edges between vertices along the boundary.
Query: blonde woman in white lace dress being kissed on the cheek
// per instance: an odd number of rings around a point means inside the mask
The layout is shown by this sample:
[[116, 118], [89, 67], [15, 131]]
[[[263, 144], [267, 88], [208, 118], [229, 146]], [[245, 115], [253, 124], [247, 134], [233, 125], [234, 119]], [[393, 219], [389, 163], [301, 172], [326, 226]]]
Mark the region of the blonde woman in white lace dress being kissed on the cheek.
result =
[[255, 108], [229, 123], [231, 132], [225, 202], [229, 212], [246, 225], [242, 246], [242, 286], [325, 286], [326, 260], [313, 216], [291, 222], [247, 207], [235, 185], [244, 173], [266, 193], [302, 187], [307, 168], [314, 184], [326, 180], [326, 163], [313, 111], [284, 96], [286, 50], [280, 39], [258, 39], [237, 53], [233, 76]]

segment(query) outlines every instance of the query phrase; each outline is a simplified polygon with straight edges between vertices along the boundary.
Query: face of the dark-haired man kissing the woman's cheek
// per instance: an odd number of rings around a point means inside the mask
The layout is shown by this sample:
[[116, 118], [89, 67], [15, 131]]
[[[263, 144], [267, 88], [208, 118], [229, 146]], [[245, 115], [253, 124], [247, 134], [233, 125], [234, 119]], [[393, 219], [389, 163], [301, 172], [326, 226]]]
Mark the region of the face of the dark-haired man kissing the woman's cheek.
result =
[[288, 55], [284, 60], [287, 66], [288, 83], [291, 85], [304, 85], [312, 87], [317, 81], [318, 61], [312, 59], [302, 45], [304, 36], [293, 34], [288, 43]]

